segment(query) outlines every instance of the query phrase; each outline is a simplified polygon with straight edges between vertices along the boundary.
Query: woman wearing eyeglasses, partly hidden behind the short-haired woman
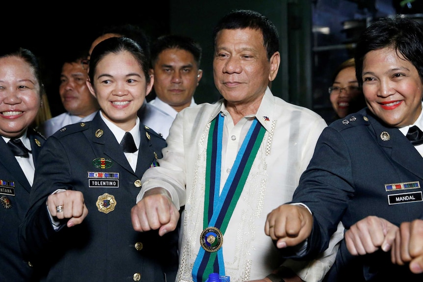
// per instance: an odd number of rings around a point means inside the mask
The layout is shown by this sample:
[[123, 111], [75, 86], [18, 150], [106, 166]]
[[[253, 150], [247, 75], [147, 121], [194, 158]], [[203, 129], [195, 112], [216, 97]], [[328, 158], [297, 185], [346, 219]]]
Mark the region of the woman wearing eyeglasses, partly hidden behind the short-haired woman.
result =
[[355, 76], [354, 58], [344, 61], [335, 71], [332, 86], [329, 87], [330, 102], [335, 111], [334, 120], [344, 118], [366, 106], [363, 92]]

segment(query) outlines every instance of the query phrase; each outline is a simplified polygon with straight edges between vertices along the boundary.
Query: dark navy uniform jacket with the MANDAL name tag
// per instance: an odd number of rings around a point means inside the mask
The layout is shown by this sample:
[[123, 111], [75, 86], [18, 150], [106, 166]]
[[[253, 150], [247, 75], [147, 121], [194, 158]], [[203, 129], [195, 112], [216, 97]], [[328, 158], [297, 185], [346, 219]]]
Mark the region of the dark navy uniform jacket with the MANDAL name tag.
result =
[[[313, 213], [308, 255], [327, 248], [339, 221], [347, 230], [369, 215], [397, 226], [423, 219], [422, 185], [423, 158], [399, 129], [382, 125], [367, 108], [332, 123], [293, 195], [293, 202]], [[411, 274], [408, 265], [393, 265], [390, 252], [352, 256], [343, 240], [326, 280], [423, 281], [423, 276]]]

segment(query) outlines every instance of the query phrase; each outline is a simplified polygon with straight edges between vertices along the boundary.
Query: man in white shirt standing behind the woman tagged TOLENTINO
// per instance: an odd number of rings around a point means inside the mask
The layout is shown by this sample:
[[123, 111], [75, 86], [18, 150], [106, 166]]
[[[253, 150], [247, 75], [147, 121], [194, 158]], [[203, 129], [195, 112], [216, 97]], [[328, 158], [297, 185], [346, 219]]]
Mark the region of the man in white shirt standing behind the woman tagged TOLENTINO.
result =
[[196, 105], [194, 92], [203, 76], [200, 69], [201, 47], [192, 38], [182, 35], [163, 35], [151, 45], [152, 74], [156, 98], [149, 102], [166, 117], [148, 124], [164, 138], [169, 134], [176, 114], [186, 107]]

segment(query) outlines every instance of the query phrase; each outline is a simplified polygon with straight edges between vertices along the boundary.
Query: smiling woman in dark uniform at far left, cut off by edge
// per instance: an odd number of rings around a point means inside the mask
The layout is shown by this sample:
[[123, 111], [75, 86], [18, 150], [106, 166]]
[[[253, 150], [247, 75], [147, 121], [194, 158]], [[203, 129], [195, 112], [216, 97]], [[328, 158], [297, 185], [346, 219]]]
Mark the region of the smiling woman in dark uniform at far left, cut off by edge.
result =
[[0, 51], [0, 281], [32, 281], [33, 267], [23, 258], [18, 227], [29, 208], [34, 163], [45, 140], [30, 128], [40, 109], [43, 84], [31, 51], [4, 49]]

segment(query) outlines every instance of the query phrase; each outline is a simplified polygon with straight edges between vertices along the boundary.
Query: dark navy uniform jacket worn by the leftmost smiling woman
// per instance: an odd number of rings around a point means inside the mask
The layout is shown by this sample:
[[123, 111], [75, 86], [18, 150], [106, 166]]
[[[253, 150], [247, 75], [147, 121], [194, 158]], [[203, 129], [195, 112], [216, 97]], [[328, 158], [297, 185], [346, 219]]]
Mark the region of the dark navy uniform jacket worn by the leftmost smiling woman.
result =
[[[36, 164], [45, 138], [31, 128], [26, 135]], [[0, 138], [0, 281], [32, 281], [33, 267], [24, 259], [18, 240], [19, 224], [29, 208], [30, 191], [21, 166]]]

